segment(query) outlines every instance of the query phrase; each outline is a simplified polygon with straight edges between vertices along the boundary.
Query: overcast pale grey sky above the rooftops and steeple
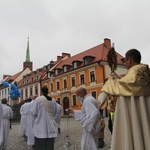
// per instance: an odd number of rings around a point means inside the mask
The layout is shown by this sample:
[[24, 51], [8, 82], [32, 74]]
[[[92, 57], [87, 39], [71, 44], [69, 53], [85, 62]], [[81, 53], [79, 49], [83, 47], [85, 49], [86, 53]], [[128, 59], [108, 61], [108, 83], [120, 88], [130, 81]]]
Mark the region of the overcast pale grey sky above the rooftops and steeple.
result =
[[124, 56], [150, 64], [150, 0], [0, 0], [0, 80], [23, 69], [27, 38], [33, 70], [111, 39]]

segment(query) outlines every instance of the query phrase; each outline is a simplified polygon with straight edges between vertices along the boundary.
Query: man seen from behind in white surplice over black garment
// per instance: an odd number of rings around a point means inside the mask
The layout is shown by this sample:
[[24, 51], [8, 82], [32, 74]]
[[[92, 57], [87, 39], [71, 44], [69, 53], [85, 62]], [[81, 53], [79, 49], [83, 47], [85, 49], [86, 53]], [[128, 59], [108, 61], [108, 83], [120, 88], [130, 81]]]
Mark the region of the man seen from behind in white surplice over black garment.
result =
[[43, 95], [35, 99], [30, 109], [34, 117], [35, 150], [54, 150], [56, 101], [48, 96], [46, 86], [41, 88], [41, 92]]

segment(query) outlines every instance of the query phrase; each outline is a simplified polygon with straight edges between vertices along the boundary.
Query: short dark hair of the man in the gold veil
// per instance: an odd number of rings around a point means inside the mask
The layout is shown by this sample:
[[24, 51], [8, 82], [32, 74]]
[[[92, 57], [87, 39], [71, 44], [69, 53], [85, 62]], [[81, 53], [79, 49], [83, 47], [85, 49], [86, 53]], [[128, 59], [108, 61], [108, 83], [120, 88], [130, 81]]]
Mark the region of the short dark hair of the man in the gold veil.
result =
[[125, 54], [126, 58], [132, 58], [136, 63], [141, 62], [141, 53], [137, 49], [130, 49]]

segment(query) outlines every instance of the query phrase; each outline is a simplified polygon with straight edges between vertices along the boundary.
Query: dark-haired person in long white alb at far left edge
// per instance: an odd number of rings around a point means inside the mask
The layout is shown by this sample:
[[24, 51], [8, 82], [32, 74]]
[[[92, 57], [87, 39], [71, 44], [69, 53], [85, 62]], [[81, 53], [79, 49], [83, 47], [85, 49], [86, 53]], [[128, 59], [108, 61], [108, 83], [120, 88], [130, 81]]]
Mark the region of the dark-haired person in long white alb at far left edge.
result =
[[6, 150], [8, 144], [9, 130], [10, 130], [10, 119], [13, 118], [13, 111], [11, 107], [7, 106], [7, 99], [2, 99], [3, 117], [0, 128], [0, 138], [2, 150]]

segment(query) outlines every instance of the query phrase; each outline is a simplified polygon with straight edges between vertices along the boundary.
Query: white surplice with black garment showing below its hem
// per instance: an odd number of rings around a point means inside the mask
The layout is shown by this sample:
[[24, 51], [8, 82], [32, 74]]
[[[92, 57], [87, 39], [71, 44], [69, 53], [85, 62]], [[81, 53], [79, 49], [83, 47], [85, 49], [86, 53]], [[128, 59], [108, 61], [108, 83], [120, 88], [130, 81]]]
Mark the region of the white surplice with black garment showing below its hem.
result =
[[53, 115], [50, 117], [41, 101], [41, 98], [43, 97], [37, 97], [30, 107], [30, 112], [34, 117], [34, 136], [37, 138], [55, 138], [57, 137], [57, 132], [53, 117], [56, 115], [56, 101], [54, 99], [51, 101], [47, 100], [47, 107], [49, 107], [51, 114]]

